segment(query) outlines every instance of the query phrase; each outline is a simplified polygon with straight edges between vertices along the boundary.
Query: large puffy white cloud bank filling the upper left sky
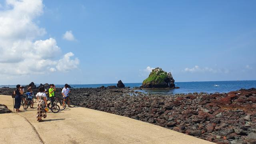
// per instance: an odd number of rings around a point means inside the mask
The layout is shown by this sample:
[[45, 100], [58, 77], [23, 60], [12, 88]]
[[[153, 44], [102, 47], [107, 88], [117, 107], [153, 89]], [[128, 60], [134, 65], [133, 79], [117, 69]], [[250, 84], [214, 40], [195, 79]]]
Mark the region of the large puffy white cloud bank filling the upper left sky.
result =
[[72, 52], [62, 58], [54, 38], [38, 39], [46, 34], [34, 22], [42, 13], [42, 0], [6, 0], [5, 9], [0, 10], [0, 75], [44, 74], [77, 68], [78, 58], [71, 59]]

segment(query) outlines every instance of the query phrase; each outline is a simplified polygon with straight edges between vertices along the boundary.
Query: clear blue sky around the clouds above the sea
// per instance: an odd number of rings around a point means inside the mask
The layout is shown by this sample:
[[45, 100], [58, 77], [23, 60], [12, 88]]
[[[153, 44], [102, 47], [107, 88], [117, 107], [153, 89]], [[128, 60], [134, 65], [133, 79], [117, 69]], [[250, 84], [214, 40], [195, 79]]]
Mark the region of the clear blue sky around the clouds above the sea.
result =
[[[172, 72], [176, 82], [256, 80], [254, 0], [42, 3], [41, 14], [31, 21], [45, 34], [31, 42], [53, 38], [60, 52], [52, 61], [72, 52], [79, 64], [40, 74], [2, 74], [2, 84], [142, 82], [156, 67]], [[0, 4], [2, 12], [12, 9]], [[71, 40], [63, 38], [67, 31]]]

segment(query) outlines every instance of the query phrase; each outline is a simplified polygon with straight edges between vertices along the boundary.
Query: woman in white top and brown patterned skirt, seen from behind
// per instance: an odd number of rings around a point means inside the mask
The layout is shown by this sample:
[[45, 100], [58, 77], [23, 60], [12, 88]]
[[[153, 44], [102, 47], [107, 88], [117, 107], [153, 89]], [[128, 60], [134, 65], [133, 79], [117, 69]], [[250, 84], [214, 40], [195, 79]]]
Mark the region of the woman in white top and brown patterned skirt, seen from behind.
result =
[[42, 117], [46, 118], [46, 111], [44, 108], [47, 107], [47, 99], [44, 91], [44, 87], [40, 87], [39, 92], [36, 94], [36, 98], [38, 100], [36, 118], [39, 122], [43, 121]]

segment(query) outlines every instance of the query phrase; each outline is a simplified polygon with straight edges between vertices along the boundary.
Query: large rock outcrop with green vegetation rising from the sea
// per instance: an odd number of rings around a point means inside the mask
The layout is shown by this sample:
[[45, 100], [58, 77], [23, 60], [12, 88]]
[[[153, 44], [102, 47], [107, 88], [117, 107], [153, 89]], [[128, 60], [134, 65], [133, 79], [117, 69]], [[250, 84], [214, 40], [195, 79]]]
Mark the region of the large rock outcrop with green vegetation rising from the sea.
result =
[[142, 82], [141, 88], [175, 88], [175, 84], [170, 72], [167, 73], [162, 68], [155, 68]]

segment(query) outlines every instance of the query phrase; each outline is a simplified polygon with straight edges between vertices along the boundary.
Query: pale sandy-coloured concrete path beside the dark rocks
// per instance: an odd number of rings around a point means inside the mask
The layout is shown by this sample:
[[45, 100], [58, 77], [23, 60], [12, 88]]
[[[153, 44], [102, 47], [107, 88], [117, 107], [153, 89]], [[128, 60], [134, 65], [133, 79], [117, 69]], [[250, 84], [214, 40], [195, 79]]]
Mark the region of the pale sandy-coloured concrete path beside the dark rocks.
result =
[[[0, 95], [0, 104], [13, 108], [11, 96]], [[36, 109], [31, 108], [0, 114], [0, 143], [214, 144], [154, 124], [88, 108], [67, 107], [57, 114], [50, 112], [44, 122], [36, 121], [35, 116]]]

